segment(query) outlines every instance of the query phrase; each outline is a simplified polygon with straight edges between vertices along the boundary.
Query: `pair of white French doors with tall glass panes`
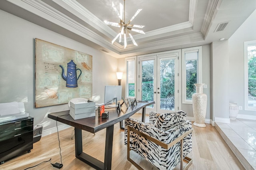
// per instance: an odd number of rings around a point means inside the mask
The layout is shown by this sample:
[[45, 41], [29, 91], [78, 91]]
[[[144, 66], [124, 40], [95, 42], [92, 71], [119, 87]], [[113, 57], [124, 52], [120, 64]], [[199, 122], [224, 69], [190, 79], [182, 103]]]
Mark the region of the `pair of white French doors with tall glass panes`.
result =
[[138, 99], [155, 101], [146, 112], [161, 113], [178, 110], [179, 52], [138, 56]]

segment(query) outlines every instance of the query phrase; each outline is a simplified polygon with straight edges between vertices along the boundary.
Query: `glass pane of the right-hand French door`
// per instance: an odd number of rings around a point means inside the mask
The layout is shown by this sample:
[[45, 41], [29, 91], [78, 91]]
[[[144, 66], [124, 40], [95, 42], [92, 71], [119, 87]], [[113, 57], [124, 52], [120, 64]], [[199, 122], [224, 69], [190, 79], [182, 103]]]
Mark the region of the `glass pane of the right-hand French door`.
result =
[[174, 111], [174, 59], [160, 60], [160, 108]]

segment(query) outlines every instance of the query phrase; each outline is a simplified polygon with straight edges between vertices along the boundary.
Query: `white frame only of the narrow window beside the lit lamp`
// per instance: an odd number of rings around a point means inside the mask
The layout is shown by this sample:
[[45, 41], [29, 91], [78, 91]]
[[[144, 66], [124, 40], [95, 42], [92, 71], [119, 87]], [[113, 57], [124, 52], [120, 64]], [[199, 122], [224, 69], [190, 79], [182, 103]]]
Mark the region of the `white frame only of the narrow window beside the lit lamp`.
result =
[[[128, 85], [128, 73], [127, 73], [127, 63], [128, 61], [134, 61], [134, 97], [129, 96], [129, 85]], [[136, 98], [137, 95], [137, 56], [132, 56], [132, 57], [125, 57], [125, 98]]]

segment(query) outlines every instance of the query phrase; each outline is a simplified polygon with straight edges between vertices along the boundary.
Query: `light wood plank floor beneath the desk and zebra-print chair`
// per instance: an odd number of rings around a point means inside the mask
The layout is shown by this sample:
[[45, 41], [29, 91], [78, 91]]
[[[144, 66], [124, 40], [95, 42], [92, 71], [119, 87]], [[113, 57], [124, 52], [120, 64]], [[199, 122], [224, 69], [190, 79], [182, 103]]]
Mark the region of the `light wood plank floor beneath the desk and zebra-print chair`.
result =
[[[133, 116], [141, 120], [140, 114]], [[146, 116], [146, 122], [148, 115]], [[224, 142], [215, 127], [206, 124], [206, 128], [193, 127], [192, 132], [192, 153], [189, 155], [193, 159], [193, 164], [189, 170], [243, 170], [242, 164], [234, 156], [228, 145]], [[101, 130], [95, 135], [82, 131], [83, 151], [95, 158], [104, 161], [106, 130]], [[62, 154], [62, 170], [94, 170], [89, 165], [75, 158], [74, 128], [67, 128], [59, 132], [60, 147]], [[60, 163], [60, 149], [57, 133], [44, 136], [40, 141], [34, 143], [34, 148], [30, 153], [24, 153], [16, 158], [6, 161], [0, 165], [1, 170], [24, 170], [30, 166], [35, 166], [40, 162], [52, 158], [51, 162]], [[119, 123], [114, 125], [114, 141], [112, 153], [113, 170], [136, 170], [136, 168], [126, 159], [127, 147], [124, 145], [124, 131], [120, 130]], [[136, 160], [145, 170], [154, 170], [146, 160], [131, 152], [131, 158]], [[57, 170], [50, 162], [42, 163], [31, 170]], [[177, 166], [175, 170], [178, 170]]]

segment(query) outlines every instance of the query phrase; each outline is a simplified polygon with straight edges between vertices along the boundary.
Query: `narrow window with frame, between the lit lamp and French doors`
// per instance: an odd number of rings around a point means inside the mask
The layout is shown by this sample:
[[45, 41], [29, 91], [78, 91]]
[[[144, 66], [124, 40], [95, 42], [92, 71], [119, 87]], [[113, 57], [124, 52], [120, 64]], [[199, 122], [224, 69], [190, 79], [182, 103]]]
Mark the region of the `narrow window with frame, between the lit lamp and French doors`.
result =
[[125, 97], [135, 98], [136, 96], [136, 56], [126, 57], [126, 87], [125, 87]]

